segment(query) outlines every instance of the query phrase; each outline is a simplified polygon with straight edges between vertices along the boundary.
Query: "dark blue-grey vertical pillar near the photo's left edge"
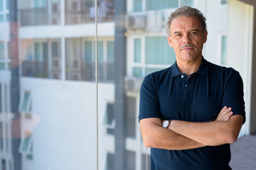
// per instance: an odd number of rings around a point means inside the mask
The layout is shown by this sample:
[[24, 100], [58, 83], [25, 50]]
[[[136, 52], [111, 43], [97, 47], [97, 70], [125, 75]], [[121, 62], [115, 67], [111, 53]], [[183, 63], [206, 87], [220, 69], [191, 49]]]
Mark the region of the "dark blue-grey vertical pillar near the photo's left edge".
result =
[[[9, 0], [10, 4], [10, 57], [11, 57], [11, 113], [14, 113], [15, 120], [11, 122], [12, 134], [20, 136], [21, 123], [18, 113], [18, 105], [20, 103], [20, 81], [18, 67], [18, 9], [17, 0]], [[21, 170], [21, 154], [18, 152], [18, 147], [21, 139], [14, 137], [11, 140], [11, 150], [14, 158], [14, 170]]]

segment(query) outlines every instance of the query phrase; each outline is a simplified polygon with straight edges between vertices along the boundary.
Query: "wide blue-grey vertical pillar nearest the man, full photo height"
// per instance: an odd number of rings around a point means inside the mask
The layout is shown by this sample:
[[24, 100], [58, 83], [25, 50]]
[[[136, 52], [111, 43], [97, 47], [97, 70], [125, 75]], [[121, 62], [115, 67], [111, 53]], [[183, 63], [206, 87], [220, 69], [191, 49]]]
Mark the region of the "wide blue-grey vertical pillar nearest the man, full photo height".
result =
[[126, 0], [114, 1], [114, 170], [125, 169], [126, 98], [126, 38], [124, 37], [124, 13]]

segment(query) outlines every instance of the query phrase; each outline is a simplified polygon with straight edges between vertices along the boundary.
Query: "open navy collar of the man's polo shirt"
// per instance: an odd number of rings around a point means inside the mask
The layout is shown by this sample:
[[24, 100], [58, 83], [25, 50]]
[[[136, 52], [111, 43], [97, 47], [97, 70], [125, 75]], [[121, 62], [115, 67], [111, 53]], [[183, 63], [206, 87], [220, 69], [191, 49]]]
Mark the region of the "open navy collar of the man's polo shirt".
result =
[[[202, 57], [202, 62], [196, 74], [206, 75], [208, 74], [208, 68], [209, 68], [208, 62]], [[181, 75], [181, 72], [178, 69], [177, 62], [175, 62], [171, 67], [171, 76], [176, 77], [178, 75]]]

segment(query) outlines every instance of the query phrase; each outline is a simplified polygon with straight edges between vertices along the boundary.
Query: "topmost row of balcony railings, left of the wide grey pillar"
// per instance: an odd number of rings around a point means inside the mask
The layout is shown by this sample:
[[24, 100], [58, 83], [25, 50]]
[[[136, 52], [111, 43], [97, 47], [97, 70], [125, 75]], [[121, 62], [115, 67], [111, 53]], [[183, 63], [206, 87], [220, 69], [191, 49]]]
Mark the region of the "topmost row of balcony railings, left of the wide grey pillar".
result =
[[[92, 23], [95, 21], [95, 1], [65, 1], [65, 24]], [[60, 4], [19, 10], [21, 26], [60, 24]], [[114, 21], [114, 0], [98, 2], [97, 21]]]

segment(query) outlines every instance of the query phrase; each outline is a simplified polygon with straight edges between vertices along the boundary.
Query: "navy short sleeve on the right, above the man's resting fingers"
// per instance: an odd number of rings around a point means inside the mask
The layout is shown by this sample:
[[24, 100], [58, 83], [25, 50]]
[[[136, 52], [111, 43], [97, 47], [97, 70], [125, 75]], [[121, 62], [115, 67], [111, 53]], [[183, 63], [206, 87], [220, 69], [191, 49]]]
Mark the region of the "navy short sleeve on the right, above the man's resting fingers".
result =
[[226, 80], [226, 86], [223, 91], [223, 106], [232, 108], [233, 115], [243, 115], [245, 123], [245, 101], [243, 93], [243, 83], [239, 72], [232, 72]]

